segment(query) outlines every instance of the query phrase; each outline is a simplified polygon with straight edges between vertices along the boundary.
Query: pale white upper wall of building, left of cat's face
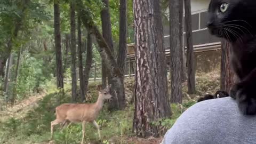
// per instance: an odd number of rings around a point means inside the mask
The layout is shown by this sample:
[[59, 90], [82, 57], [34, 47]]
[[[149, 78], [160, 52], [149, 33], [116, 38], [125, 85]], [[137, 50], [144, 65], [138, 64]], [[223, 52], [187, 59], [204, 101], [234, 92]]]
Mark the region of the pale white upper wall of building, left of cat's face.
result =
[[191, 0], [191, 12], [192, 14], [203, 12], [208, 9], [210, 0]]

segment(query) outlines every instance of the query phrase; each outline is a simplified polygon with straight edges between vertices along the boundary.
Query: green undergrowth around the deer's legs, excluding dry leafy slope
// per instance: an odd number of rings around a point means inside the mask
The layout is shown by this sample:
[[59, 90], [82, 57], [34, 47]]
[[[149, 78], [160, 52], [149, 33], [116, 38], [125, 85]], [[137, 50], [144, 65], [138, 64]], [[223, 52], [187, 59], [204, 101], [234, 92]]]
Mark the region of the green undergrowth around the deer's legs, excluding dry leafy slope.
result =
[[[92, 92], [95, 101], [97, 92]], [[50, 139], [50, 123], [55, 119], [54, 108], [60, 103], [70, 100], [69, 94], [51, 93], [38, 102], [38, 107], [30, 110], [23, 119], [10, 118], [0, 123], [0, 143], [44, 143]], [[169, 129], [175, 120], [186, 108], [194, 102], [186, 102], [179, 105], [172, 104], [172, 118], [164, 119], [162, 126]], [[129, 105], [125, 110], [110, 112], [103, 107], [97, 122], [101, 127], [103, 143], [109, 143], [112, 137], [119, 137], [116, 143], [121, 143], [122, 137], [132, 136], [132, 121], [134, 107]], [[97, 141], [97, 129], [92, 124], [86, 125], [86, 141]], [[55, 127], [55, 143], [80, 143], [82, 139], [82, 125], [72, 124], [68, 128], [60, 130]]]

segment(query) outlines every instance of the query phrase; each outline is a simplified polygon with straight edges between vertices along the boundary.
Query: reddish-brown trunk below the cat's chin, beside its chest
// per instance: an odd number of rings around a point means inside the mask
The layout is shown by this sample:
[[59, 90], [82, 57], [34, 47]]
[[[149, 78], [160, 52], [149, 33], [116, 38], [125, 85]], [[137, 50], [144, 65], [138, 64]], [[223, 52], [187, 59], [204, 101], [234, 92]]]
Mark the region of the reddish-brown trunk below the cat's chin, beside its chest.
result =
[[231, 86], [235, 84], [237, 77], [231, 69], [230, 64], [230, 44], [222, 40], [221, 42], [221, 70], [220, 70], [220, 89], [229, 92]]

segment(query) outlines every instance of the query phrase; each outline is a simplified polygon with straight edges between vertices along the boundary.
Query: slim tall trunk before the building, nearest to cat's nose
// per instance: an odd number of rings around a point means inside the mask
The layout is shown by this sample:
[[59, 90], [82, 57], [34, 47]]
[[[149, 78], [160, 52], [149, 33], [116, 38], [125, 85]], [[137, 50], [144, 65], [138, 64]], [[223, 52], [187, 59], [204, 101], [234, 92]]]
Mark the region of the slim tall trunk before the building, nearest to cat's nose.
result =
[[191, 2], [185, 2], [185, 23], [186, 23], [186, 39], [187, 39], [187, 66], [188, 66], [188, 94], [196, 93], [195, 63], [194, 49], [192, 38], [192, 19], [191, 19]]

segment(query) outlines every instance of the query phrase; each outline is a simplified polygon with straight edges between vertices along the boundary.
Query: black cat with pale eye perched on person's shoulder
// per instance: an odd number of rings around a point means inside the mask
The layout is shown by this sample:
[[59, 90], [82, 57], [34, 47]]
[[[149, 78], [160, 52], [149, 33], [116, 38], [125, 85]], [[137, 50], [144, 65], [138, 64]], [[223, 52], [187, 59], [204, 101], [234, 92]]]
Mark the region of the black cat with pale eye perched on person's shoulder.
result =
[[[223, 5], [228, 5], [227, 9]], [[256, 0], [212, 0], [208, 12], [210, 33], [231, 44], [231, 67], [239, 82], [231, 88], [230, 96], [243, 114], [255, 115]]]

